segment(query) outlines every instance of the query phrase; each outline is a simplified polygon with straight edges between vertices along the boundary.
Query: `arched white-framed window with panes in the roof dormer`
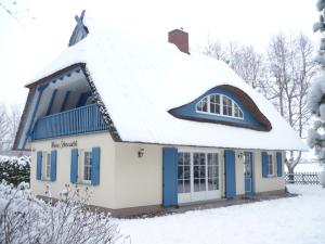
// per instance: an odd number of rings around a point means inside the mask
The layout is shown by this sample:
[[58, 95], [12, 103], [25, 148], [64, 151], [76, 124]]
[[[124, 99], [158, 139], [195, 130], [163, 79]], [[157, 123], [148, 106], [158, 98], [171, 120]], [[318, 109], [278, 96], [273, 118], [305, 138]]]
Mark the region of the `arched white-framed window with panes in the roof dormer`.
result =
[[209, 94], [196, 104], [196, 112], [221, 115], [234, 118], [244, 118], [244, 113], [238, 104], [224, 94]]

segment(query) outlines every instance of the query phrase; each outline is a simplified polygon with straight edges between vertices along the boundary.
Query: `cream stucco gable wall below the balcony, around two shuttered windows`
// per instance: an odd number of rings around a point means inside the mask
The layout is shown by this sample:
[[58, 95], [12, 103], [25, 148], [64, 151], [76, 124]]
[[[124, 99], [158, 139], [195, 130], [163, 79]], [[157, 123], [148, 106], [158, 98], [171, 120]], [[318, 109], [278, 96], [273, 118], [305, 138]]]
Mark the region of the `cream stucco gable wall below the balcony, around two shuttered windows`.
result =
[[[53, 197], [58, 197], [58, 192], [64, 189], [66, 183], [70, 183], [70, 158], [72, 149], [63, 147], [55, 149], [57, 151], [56, 159], [56, 181], [43, 181], [36, 179], [36, 154], [38, 151], [51, 152], [52, 142], [61, 141], [70, 142], [77, 140], [78, 149], [91, 149], [94, 146], [101, 147], [100, 163], [100, 185], [92, 187], [88, 184], [78, 184], [80, 188], [89, 187], [93, 192], [90, 204], [102, 207], [113, 208], [115, 204], [115, 143], [108, 132], [93, 133], [86, 136], [74, 136], [56, 138], [53, 140], [35, 141], [31, 143], [31, 172], [30, 187], [39, 195], [44, 195], [47, 185], [49, 185]], [[73, 187], [72, 187], [73, 189]]]

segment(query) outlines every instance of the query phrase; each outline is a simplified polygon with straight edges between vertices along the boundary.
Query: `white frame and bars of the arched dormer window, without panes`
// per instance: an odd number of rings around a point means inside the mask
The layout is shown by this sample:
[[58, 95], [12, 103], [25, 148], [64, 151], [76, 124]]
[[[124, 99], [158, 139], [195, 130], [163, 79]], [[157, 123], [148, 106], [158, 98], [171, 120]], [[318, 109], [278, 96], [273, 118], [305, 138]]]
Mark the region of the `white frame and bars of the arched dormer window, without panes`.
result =
[[[220, 98], [220, 110], [219, 110], [220, 113], [219, 114], [210, 112], [210, 95], [219, 95], [219, 98]], [[223, 114], [223, 97], [229, 99], [232, 102], [232, 115]], [[207, 100], [207, 112], [197, 110], [198, 104], [202, 103], [202, 101], [204, 99]], [[238, 107], [239, 114], [242, 113], [243, 117], [236, 117], [235, 116], [235, 104]], [[218, 115], [218, 116], [222, 116], [222, 117], [236, 118], [236, 119], [242, 119], [242, 120], [244, 120], [244, 117], [245, 117], [245, 114], [244, 114], [243, 110], [240, 108], [240, 106], [233, 99], [231, 99], [230, 97], [227, 97], [225, 94], [221, 94], [221, 93], [212, 93], [212, 94], [208, 94], [208, 95], [202, 98], [195, 104], [195, 111], [196, 111], [196, 113], [200, 113], [200, 114]]]

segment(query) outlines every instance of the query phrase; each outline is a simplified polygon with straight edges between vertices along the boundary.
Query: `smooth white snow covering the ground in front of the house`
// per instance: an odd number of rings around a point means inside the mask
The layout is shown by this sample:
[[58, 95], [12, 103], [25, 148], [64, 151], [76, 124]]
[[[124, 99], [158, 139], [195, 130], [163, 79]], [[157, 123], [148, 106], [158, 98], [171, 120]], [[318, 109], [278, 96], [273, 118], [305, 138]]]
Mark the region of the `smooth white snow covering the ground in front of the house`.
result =
[[289, 185], [297, 197], [147, 219], [120, 219], [132, 244], [324, 244], [325, 189]]

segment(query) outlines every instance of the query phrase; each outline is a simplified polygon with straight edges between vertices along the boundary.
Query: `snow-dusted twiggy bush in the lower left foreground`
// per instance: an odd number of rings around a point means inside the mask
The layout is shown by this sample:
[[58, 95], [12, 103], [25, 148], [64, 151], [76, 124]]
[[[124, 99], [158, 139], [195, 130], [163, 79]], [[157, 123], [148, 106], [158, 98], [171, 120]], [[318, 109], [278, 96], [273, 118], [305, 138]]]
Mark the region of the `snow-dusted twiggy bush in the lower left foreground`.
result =
[[[48, 191], [49, 194], [49, 191]], [[92, 244], [116, 243], [117, 224], [108, 215], [89, 211], [88, 190], [68, 185], [56, 202], [35, 196], [28, 183], [0, 184], [0, 243]]]

